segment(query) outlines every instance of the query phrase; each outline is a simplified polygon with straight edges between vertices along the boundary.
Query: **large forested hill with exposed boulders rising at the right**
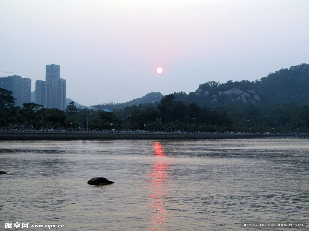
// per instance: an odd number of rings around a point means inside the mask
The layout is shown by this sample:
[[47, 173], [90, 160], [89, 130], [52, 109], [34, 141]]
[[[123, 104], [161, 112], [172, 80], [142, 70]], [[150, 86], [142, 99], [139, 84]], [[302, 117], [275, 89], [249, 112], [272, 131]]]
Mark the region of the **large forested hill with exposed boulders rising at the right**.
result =
[[282, 104], [295, 101], [298, 105], [309, 104], [309, 64], [292, 66], [270, 73], [256, 81], [211, 81], [200, 84], [195, 92], [188, 95], [175, 92], [176, 100], [185, 104], [196, 102], [200, 106], [227, 106], [232, 102], [239, 105], [252, 102], [257, 104]]

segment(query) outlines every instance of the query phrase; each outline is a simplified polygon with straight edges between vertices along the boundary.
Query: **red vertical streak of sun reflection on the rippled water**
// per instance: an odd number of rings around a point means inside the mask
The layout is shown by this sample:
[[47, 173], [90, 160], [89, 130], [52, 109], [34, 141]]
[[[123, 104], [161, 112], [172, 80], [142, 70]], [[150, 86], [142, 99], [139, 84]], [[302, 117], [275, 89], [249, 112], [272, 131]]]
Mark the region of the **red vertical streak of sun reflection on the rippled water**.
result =
[[160, 142], [155, 142], [153, 144], [154, 152], [153, 155], [156, 156], [155, 163], [151, 167], [151, 173], [148, 175], [150, 177], [150, 202], [148, 207], [154, 213], [152, 220], [154, 225], [147, 228], [148, 230], [164, 231], [162, 222], [169, 219], [167, 214], [169, 213], [165, 209], [165, 200], [168, 193], [167, 182], [170, 178], [170, 174], [167, 172], [169, 169], [168, 158], [165, 156], [164, 150]]

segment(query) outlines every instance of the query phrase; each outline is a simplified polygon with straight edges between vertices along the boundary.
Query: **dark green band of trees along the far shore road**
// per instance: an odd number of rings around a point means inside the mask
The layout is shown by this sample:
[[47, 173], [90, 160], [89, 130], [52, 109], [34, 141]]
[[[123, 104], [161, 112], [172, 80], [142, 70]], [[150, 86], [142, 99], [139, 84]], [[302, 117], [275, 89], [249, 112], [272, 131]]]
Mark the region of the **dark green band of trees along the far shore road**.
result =
[[[66, 111], [42, 108], [35, 103], [14, 106], [12, 92], [0, 88], [1, 128], [117, 129], [147, 131], [201, 132], [309, 132], [309, 107], [295, 102], [276, 105], [245, 106], [231, 103], [226, 107], [201, 107], [196, 102], [184, 103], [174, 94], [165, 95], [158, 104], [133, 105], [124, 109], [79, 110], [71, 102]], [[126, 123], [128, 119], [128, 124]], [[247, 127], [246, 127], [247, 123]], [[275, 125], [275, 127], [273, 126]], [[273, 127], [275, 128], [273, 130]]]

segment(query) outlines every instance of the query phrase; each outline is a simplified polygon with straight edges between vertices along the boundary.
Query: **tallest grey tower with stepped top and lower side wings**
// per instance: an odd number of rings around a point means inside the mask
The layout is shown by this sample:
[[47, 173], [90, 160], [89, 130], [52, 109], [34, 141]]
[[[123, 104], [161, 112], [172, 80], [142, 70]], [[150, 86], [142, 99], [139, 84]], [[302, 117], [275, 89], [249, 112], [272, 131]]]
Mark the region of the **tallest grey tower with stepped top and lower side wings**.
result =
[[66, 109], [66, 79], [60, 79], [60, 65], [46, 65], [45, 81], [36, 81], [35, 103], [45, 108]]

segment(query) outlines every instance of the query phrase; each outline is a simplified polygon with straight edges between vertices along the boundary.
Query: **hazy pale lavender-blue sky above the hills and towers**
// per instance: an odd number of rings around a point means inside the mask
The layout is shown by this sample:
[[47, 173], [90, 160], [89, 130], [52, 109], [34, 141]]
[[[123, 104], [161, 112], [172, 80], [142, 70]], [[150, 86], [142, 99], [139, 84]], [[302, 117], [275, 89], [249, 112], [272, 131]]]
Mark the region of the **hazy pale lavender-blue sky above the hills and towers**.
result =
[[0, 1], [0, 71], [31, 78], [33, 91], [46, 64], [59, 64], [67, 97], [87, 106], [300, 63], [308, 0]]

